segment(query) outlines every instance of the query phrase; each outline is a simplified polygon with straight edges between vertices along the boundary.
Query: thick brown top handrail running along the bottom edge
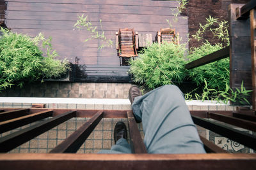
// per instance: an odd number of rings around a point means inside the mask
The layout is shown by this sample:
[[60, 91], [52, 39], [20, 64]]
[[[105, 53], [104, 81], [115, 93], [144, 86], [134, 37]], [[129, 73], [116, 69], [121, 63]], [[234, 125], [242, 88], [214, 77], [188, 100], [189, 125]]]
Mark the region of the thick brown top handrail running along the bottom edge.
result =
[[0, 154], [1, 169], [247, 169], [256, 168], [255, 153], [211, 154]]

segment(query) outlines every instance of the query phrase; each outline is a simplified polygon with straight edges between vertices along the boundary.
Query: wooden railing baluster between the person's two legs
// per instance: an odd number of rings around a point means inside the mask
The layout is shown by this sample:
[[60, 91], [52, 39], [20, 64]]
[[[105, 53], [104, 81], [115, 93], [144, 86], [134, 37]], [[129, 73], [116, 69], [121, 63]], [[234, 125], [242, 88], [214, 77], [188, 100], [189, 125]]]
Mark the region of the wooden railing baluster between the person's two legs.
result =
[[147, 153], [132, 111], [127, 111], [132, 153]]

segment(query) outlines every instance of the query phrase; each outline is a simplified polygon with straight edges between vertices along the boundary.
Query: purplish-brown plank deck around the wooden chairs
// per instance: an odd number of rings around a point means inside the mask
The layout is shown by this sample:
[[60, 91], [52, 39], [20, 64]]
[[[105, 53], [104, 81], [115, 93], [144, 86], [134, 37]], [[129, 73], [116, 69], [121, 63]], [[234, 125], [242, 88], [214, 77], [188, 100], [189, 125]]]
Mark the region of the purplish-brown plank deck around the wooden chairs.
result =
[[[106, 76], [120, 76], [117, 79], [120, 78], [121, 81], [131, 80], [131, 78], [122, 80], [122, 76], [128, 76], [127, 71], [121, 74], [118, 71], [120, 66], [115, 49], [115, 32], [119, 28], [128, 27], [134, 28], [134, 31], [138, 31], [138, 33], [151, 33], [154, 38], [160, 28], [168, 27], [166, 19], [175, 18], [170, 7], [175, 9], [178, 5], [178, 2], [175, 1], [151, 0], [6, 1], [8, 2], [6, 25], [13, 31], [31, 36], [42, 32], [45, 36], [52, 36], [53, 48], [60, 53], [61, 58], [67, 57], [74, 64], [77, 61], [78, 64], [85, 64], [89, 67], [91, 65], [109, 66]], [[99, 20], [102, 19], [102, 29], [105, 31], [106, 37], [113, 40], [113, 48], [106, 46], [98, 50], [98, 46], [102, 45], [101, 41], [83, 42], [84, 39], [90, 38], [90, 33], [84, 30], [73, 30], [77, 15], [83, 13], [88, 15], [88, 19], [92, 21], [93, 25], [98, 27]], [[180, 36], [186, 42], [188, 40], [188, 19], [184, 16], [178, 18], [179, 22], [173, 22], [173, 27], [180, 32]], [[102, 71], [101, 74], [104, 74], [105, 71]], [[86, 73], [86, 69], [82, 72]], [[90, 74], [92, 75], [93, 72]], [[94, 75], [98, 74], [94, 73]], [[86, 74], [81, 74], [74, 80], [86, 81]]]

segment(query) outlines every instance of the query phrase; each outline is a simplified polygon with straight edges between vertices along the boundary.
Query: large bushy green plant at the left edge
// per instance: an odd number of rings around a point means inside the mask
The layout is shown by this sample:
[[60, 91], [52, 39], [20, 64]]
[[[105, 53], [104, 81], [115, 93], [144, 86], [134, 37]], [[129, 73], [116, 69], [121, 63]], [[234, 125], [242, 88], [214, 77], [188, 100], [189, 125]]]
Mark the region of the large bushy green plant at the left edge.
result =
[[[67, 60], [55, 59], [58, 53], [52, 50], [51, 38], [45, 39], [42, 34], [30, 38], [3, 28], [1, 32], [0, 89], [14, 84], [22, 87], [25, 80], [58, 77], [67, 70]], [[40, 47], [45, 48], [47, 57]]]

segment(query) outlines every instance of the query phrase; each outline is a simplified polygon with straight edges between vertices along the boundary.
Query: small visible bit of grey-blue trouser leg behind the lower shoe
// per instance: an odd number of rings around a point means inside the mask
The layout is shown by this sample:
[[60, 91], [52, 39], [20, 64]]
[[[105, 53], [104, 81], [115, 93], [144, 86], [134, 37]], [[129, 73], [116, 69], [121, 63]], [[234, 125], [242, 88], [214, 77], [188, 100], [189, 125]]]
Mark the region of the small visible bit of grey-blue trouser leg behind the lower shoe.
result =
[[131, 153], [131, 146], [126, 139], [121, 138], [116, 141], [116, 145], [113, 145], [111, 150], [100, 150], [99, 153]]

